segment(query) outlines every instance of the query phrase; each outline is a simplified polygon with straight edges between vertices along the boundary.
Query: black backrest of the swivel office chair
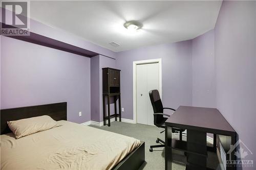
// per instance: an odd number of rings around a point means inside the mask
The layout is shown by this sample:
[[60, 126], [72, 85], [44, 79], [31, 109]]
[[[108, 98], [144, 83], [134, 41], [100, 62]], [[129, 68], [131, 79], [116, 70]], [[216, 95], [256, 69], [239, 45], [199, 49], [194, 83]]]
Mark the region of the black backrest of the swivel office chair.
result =
[[[154, 113], [163, 113], [163, 104], [160, 99], [158, 90], [151, 90], [149, 93], [150, 93], [150, 100], [153, 106]], [[163, 115], [160, 115], [160, 114], [154, 115], [154, 125], [159, 127], [163, 119], [164, 119]]]

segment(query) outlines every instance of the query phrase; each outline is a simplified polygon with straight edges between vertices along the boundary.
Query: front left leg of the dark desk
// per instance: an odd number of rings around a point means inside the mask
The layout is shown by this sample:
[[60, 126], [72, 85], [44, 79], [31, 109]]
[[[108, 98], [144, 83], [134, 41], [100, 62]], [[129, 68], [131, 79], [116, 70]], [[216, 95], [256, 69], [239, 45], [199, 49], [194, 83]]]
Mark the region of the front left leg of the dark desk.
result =
[[165, 170], [172, 170], [172, 127], [165, 126]]

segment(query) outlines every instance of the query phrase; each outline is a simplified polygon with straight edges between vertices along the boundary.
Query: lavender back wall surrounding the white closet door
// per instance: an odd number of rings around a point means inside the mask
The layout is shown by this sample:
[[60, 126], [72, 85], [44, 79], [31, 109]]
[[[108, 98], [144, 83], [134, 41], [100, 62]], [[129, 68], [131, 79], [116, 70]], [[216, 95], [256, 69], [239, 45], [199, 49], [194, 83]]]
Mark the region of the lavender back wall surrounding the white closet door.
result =
[[192, 104], [191, 40], [119, 52], [122, 117], [133, 119], [133, 61], [162, 59], [162, 101], [165, 107]]

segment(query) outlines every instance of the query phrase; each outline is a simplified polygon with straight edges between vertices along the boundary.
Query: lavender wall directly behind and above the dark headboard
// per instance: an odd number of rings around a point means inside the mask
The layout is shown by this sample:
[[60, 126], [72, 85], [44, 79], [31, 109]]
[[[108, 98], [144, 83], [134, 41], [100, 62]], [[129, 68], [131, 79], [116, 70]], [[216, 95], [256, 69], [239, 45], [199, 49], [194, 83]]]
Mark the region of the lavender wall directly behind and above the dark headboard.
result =
[[90, 93], [90, 58], [1, 37], [1, 109], [68, 102], [68, 120], [83, 123]]

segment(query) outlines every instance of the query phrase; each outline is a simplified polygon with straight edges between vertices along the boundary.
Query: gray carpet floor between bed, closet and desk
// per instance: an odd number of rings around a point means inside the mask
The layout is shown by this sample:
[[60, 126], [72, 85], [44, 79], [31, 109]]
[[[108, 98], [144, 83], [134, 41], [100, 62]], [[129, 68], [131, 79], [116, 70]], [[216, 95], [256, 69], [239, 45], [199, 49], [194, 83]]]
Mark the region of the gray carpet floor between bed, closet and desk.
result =
[[[91, 125], [90, 125], [91, 126]], [[134, 137], [141, 141], [145, 142], [145, 163], [141, 166], [140, 169], [164, 169], [164, 148], [153, 149], [153, 152], [150, 152], [150, 145], [158, 144], [156, 143], [156, 138], [164, 140], [164, 133], [160, 132], [162, 129], [158, 129], [155, 126], [148, 126], [142, 124], [128, 124], [123, 122], [112, 122], [111, 127], [102, 126], [96, 127], [98, 129], [103, 129], [106, 131], [111, 131], [119, 133], [122, 135]], [[174, 138], [179, 138], [177, 135], [173, 135]], [[183, 136], [183, 140], [186, 140], [186, 137]], [[213, 169], [219, 169], [218, 167], [218, 158], [215, 153], [208, 152], [207, 167]], [[173, 162], [172, 169], [175, 170], [185, 170], [186, 157], [183, 152], [173, 150]]]

